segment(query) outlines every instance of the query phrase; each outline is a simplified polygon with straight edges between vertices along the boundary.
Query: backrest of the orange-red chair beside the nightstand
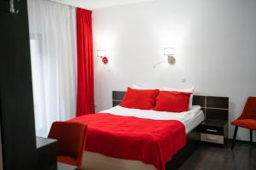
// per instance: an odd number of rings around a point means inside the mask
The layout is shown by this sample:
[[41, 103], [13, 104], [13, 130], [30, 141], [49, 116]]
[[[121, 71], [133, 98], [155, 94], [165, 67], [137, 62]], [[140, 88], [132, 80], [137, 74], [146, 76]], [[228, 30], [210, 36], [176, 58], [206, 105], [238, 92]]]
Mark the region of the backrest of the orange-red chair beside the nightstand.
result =
[[256, 97], [248, 97], [239, 119], [256, 119]]

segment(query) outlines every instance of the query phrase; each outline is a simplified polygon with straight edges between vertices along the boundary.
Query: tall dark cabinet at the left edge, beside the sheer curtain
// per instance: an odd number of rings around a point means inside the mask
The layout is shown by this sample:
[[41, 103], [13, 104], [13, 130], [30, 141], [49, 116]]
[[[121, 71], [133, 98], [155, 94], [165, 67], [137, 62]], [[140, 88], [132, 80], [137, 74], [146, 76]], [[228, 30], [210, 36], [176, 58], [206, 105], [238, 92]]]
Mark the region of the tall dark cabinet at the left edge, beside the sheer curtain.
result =
[[35, 170], [36, 136], [26, 1], [0, 0], [0, 105], [3, 169]]

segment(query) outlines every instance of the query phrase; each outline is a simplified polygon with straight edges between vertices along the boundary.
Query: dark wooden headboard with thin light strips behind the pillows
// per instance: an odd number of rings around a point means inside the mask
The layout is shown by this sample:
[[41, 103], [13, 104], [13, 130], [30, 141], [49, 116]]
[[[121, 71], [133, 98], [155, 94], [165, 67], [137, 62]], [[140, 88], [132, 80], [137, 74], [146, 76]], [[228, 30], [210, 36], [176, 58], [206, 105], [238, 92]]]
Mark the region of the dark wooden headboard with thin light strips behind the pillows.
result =
[[[113, 91], [113, 106], [119, 105], [123, 100], [124, 95], [124, 91]], [[201, 105], [207, 119], [229, 120], [228, 97], [193, 95], [193, 105]]]

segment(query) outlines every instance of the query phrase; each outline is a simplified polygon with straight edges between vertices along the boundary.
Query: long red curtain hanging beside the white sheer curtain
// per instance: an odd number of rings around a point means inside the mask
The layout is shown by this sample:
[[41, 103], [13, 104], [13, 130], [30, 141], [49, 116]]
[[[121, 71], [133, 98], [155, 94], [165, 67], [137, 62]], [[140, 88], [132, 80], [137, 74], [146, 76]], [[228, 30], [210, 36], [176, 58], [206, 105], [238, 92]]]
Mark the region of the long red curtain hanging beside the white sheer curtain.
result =
[[94, 113], [94, 64], [91, 11], [77, 8], [77, 116]]

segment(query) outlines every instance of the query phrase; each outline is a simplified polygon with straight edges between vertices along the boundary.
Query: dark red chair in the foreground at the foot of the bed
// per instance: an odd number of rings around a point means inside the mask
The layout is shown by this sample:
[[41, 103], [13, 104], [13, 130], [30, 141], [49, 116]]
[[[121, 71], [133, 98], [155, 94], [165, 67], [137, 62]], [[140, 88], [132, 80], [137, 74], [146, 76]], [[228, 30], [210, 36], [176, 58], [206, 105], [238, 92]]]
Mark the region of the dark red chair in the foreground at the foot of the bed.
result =
[[54, 122], [48, 138], [57, 139], [57, 160], [81, 167], [87, 125], [78, 122]]

